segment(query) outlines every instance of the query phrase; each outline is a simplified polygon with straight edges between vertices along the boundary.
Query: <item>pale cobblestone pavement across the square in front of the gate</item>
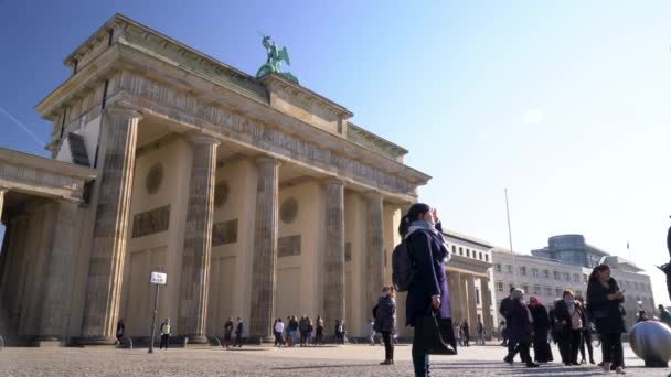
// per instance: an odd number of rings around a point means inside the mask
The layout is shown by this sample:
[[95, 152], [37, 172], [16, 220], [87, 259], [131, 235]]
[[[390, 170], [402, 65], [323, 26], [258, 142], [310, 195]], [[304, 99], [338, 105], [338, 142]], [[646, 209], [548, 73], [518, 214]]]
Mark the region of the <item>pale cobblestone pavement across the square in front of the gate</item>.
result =
[[[147, 348], [14, 348], [0, 351], [0, 376], [412, 376], [411, 347], [396, 346], [396, 365], [377, 365], [384, 347], [347, 345], [308, 348], [221, 347]], [[558, 351], [553, 349], [558, 358]], [[497, 345], [459, 348], [458, 356], [432, 356], [432, 376], [595, 376], [596, 366], [565, 367], [557, 363], [541, 368], [514, 366], [501, 359]], [[600, 349], [595, 349], [600, 359]], [[643, 368], [626, 345], [627, 375], [668, 376], [671, 368]], [[610, 374], [615, 376], [615, 374]]]

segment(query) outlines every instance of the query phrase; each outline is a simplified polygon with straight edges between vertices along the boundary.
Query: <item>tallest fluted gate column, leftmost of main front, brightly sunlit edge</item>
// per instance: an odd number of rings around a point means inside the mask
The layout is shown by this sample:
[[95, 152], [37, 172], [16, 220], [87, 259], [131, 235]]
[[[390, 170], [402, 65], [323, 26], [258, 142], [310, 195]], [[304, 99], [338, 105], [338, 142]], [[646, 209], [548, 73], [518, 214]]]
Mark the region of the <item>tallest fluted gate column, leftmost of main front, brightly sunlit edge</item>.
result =
[[94, 224], [82, 344], [114, 344], [126, 260], [130, 196], [141, 115], [124, 107], [105, 110], [107, 137]]

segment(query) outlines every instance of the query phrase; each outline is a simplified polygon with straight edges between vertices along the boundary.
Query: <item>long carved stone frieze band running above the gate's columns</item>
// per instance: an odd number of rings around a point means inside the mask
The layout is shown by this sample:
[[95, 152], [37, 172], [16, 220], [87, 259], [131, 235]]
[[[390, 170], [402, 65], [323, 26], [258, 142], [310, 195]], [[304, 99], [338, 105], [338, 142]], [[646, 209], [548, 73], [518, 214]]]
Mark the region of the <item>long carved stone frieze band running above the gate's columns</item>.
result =
[[203, 120], [213, 123], [205, 125], [205, 127], [219, 133], [230, 134], [238, 141], [249, 142], [265, 150], [343, 174], [374, 187], [402, 194], [412, 193], [414, 188], [414, 185], [405, 179], [334, 153], [329, 149], [323, 149], [313, 142], [285, 133], [260, 121], [248, 119], [211, 104], [201, 103], [187, 94], [147, 77], [125, 73], [120, 85], [121, 88], [136, 95], [158, 100], [192, 116], [199, 115]]

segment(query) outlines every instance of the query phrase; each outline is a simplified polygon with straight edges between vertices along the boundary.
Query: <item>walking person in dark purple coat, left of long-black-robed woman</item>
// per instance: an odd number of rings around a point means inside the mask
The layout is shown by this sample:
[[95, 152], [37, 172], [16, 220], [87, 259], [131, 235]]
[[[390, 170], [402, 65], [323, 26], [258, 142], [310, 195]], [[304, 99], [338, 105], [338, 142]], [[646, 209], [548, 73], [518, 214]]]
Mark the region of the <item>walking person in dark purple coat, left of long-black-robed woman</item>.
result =
[[[508, 321], [508, 344], [516, 344], [522, 363], [526, 364], [528, 368], [534, 368], [539, 365], [531, 359], [529, 346], [531, 344], [531, 333], [533, 330], [533, 317], [531, 311], [524, 304], [524, 291], [515, 288], [510, 294], [510, 302], [507, 308]], [[515, 348], [512, 351], [509, 347], [508, 356], [503, 360], [508, 364], [513, 363]]]

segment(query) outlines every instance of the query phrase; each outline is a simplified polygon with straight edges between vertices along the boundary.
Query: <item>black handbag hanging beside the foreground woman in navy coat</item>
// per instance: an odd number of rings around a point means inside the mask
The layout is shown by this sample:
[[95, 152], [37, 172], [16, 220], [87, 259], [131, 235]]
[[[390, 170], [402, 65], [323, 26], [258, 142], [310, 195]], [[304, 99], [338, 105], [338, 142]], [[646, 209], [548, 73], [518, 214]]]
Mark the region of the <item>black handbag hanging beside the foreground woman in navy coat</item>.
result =
[[429, 355], [456, 355], [457, 342], [451, 319], [440, 319], [434, 310], [415, 321], [413, 347]]

